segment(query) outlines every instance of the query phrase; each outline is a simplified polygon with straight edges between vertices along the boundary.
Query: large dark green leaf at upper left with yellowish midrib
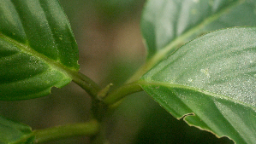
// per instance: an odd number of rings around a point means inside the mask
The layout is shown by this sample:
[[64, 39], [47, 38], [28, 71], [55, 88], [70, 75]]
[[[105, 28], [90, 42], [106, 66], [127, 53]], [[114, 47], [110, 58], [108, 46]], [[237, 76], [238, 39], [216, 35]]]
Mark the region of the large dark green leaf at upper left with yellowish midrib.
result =
[[36, 98], [70, 83], [78, 49], [57, 0], [5, 0], [0, 18], [0, 100]]

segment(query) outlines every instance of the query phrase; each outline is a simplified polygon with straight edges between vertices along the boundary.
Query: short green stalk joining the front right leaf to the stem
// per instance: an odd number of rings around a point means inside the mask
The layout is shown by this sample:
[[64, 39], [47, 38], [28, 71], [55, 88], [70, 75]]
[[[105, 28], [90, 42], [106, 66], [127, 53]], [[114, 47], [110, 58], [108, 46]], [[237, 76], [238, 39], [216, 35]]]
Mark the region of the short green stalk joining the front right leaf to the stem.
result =
[[139, 82], [124, 84], [120, 88], [110, 92], [110, 94], [107, 95], [103, 101], [105, 104], [110, 106], [112, 104], [115, 104], [117, 101], [120, 101], [124, 96], [130, 95], [139, 91], [143, 91], [143, 89], [140, 87]]

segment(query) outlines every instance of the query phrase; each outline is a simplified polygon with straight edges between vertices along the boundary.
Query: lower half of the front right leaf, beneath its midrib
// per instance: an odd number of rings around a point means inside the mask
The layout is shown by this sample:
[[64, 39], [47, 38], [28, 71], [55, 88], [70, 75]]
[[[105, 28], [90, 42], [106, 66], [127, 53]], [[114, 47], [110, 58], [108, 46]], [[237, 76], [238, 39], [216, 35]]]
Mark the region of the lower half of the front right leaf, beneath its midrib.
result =
[[[149, 95], [154, 95], [152, 96], [154, 100], [174, 117], [178, 119], [184, 118], [191, 126], [195, 126], [200, 130], [210, 131], [217, 137], [227, 136], [236, 143], [253, 143], [255, 141], [256, 128], [253, 121], [256, 118], [255, 109], [252, 107], [231, 103], [222, 98], [209, 98], [209, 95], [200, 92], [195, 93], [191, 89], [170, 89], [169, 87], [154, 84], [143, 85], [142, 87]], [[152, 89], [158, 89], [158, 92]], [[169, 92], [166, 89], [169, 89]], [[159, 91], [162, 91], [162, 93]], [[170, 95], [170, 91], [174, 94]], [[165, 95], [171, 96], [169, 101], [162, 100], [164, 92]], [[161, 96], [158, 97], [157, 95]], [[197, 97], [197, 99], [194, 97]], [[167, 102], [170, 102], [168, 106], [165, 105]], [[223, 103], [229, 103], [229, 109], [223, 109], [223, 107], [227, 107]], [[240, 117], [237, 117], [238, 114]], [[238, 118], [239, 120], [237, 120]]]

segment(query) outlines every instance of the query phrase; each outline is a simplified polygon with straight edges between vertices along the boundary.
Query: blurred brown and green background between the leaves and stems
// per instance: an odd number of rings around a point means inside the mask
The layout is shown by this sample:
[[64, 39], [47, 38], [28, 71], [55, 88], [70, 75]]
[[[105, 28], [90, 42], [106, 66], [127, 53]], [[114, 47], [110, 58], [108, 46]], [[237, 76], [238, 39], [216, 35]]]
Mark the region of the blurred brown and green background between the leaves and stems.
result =
[[[145, 0], [60, 0], [80, 49], [80, 72], [101, 87], [125, 82], [146, 59], [140, 36], [140, 15]], [[35, 129], [85, 122], [91, 100], [76, 84], [52, 89], [52, 94], [27, 101], [0, 101], [0, 114]], [[106, 119], [112, 144], [233, 143], [176, 120], [151, 97], [141, 92], [122, 101]], [[88, 143], [77, 136], [51, 144]]]

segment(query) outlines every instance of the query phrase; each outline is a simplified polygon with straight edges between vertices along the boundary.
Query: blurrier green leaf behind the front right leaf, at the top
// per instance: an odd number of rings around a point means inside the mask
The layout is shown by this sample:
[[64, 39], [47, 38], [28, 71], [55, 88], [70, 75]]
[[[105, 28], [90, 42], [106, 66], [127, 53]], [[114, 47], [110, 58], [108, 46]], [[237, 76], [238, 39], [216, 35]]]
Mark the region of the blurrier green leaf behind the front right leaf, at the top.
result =
[[244, 0], [149, 0], [141, 19], [147, 59], [161, 52], [158, 60], [162, 60], [201, 33], [255, 26], [255, 4]]

